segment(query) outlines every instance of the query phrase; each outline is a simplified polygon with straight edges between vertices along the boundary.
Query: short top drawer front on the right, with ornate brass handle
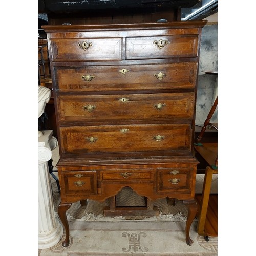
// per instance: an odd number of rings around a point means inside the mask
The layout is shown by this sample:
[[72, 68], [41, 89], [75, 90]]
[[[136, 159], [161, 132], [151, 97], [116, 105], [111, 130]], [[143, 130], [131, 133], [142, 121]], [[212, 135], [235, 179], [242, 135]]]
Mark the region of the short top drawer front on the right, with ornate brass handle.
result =
[[126, 59], [198, 56], [198, 35], [160, 35], [126, 38]]

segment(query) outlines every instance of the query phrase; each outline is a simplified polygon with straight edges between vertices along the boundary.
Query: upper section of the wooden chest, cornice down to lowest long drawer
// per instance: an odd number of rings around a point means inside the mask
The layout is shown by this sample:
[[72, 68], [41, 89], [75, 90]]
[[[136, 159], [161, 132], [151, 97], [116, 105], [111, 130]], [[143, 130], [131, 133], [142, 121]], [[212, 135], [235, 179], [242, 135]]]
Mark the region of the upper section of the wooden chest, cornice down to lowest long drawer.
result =
[[192, 155], [205, 24], [42, 26], [60, 158]]

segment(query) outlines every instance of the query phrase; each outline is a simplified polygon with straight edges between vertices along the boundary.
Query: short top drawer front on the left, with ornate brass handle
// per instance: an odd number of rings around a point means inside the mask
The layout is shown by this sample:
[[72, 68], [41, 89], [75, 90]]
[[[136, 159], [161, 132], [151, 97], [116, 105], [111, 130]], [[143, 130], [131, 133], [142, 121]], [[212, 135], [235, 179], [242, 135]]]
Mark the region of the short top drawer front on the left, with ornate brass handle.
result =
[[122, 60], [122, 38], [51, 39], [52, 61]]

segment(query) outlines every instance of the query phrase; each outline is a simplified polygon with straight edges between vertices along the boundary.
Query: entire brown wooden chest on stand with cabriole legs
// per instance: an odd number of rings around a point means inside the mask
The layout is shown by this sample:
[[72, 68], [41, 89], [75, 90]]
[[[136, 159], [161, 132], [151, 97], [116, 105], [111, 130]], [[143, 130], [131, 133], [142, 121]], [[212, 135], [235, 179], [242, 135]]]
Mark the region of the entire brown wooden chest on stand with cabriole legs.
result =
[[58, 124], [60, 219], [78, 200], [123, 187], [196, 215], [193, 157], [201, 29], [206, 21], [44, 26]]

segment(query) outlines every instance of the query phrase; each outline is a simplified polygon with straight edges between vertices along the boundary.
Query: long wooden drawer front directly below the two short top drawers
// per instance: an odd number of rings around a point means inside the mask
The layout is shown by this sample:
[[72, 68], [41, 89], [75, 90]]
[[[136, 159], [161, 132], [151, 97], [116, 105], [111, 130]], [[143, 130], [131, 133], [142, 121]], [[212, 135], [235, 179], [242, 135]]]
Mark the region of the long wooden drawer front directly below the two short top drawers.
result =
[[193, 89], [197, 62], [55, 67], [56, 90], [59, 92]]

